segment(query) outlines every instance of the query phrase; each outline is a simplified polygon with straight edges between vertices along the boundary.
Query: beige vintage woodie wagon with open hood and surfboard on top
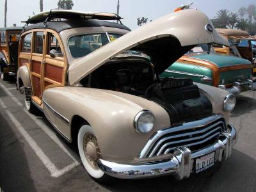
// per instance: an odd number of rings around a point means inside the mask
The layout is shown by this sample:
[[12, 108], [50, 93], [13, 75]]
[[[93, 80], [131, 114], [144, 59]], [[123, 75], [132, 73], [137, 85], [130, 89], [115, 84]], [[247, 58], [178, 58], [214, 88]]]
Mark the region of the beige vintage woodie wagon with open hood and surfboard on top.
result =
[[120, 19], [67, 10], [31, 17], [17, 73], [26, 108], [41, 109], [66, 140], [77, 142], [94, 179], [184, 179], [230, 157], [236, 97], [191, 79], [159, 77], [197, 44], [228, 41], [198, 10], [131, 32], [106, 21]]

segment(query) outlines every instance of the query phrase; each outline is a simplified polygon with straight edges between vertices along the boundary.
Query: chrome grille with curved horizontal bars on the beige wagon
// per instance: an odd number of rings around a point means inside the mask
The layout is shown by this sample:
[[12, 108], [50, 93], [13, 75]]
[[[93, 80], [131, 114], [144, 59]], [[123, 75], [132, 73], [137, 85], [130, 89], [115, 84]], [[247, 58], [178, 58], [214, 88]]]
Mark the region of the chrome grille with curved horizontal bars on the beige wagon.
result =
[[172, 153], [180, 146], [189, 147], [192, 151], [198, 150], [213, 143], [221, 132], [225, 131], [225, 126], [222, 115], [212, 115], [157, 131], [141, 151], [140, 158]]

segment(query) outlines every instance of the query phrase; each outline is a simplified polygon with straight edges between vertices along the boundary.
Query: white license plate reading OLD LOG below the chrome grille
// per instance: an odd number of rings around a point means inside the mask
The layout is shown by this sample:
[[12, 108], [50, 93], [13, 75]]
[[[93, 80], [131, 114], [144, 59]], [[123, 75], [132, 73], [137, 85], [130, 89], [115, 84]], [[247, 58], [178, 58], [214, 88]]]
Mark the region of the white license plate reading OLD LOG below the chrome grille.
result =
[[202, 172], [207, 168], [213, 166], [214, 159], [215, 159], [215, 152], [212, 152], [211, 154], [208, 154], [206, 156], [202, 156], [196, 159], [196, 164], [195, 164], [196, 173]]

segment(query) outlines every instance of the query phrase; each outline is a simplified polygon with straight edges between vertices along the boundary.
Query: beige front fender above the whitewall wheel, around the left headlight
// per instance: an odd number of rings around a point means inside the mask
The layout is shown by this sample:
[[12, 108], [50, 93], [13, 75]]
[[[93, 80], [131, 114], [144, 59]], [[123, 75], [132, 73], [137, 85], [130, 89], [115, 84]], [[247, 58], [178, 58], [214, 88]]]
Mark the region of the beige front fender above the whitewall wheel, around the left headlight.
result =
[[[158, 104], [125, 93], [93, 88], [49, 88], [44, 101], [65, 116], [67, 122], [51, 113], [44, 105], [45, 116], [67, 138], [71, 137], [70, 125], [75, 115], [81, 116], [93, 128], [105, 160], [125, 161], [138, 157], [150, 136], [159, 129], [170, 127], [170, 118]], [[143, 109], [155, 117], [154, 129], [148, 134], [134, 130], [134, 117]]]

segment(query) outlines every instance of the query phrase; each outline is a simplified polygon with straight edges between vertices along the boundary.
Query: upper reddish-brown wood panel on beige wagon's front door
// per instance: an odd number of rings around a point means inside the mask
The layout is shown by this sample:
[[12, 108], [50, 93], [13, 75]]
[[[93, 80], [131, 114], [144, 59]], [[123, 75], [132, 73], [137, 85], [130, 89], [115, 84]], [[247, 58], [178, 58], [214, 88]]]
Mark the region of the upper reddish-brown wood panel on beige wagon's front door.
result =
[[45, 77], [62, 83], [63, 68], [45, 63]]

